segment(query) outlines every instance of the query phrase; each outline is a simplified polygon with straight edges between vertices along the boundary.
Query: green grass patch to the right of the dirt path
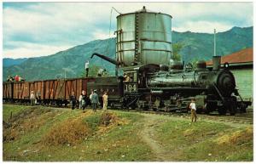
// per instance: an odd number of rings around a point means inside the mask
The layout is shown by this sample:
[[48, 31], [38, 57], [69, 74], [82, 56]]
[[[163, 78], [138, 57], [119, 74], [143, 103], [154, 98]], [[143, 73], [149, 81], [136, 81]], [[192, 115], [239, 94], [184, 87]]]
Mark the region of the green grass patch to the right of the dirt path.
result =
[[[253, 127], [175, 120], [155, 129], [157, 140], [175, 151], [174, 161], [253, 161]], [[170, 144], [172, 143], [172, 144]]]

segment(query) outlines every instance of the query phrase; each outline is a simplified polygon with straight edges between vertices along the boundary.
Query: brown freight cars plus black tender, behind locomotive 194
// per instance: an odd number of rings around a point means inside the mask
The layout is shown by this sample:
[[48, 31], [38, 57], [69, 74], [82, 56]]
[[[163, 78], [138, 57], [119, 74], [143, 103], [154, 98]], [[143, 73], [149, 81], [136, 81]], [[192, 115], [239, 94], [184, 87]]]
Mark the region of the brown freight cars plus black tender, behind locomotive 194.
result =
[[[108, 105], [121, 106], [123, 95], [123, 77], [86, 77], [53, 79], [34, 82], [3, 82], [3, 102], [20, 104], [30, 103], [30, 93], [40, 94], [41, 105], [67, 106], [69, 96], [75, 93], [77, 99], [82, 90], [89, 96], [91, 91], [97, 90], [102, 104], [102, 95], [108, 92]], [[90, 101], [88, 101], [90, 104]], [[77, 102], [79, 105], [79, 102]]]

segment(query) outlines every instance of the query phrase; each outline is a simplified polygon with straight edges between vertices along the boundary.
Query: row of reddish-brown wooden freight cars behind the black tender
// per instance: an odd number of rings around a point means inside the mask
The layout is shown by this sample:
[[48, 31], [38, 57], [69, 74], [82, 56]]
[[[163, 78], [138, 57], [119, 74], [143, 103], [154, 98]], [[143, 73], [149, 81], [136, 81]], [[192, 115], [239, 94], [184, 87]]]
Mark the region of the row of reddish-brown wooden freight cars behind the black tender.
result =
[[3, 82], [3, 101], [29, 103], [30, 93], [40, 95], [42, 105], [67, 105], [72, 92], [76, 97], [87, 90], [87, 83], [95, 78], [53, 79], [34, 82]]

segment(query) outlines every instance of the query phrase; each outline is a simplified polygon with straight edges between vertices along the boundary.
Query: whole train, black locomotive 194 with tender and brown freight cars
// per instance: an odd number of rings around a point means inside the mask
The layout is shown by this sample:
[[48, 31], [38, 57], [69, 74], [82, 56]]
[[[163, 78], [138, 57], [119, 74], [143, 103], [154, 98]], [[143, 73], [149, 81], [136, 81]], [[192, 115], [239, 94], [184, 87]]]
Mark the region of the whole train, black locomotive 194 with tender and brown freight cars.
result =
[[190, 99], [195, 98], [198, 111], [205, 113], [246, 112], [251, 102], [242, 101], [228, 68], [210, 71], [202, 61], [195, 69], [189, 66], [185, 70], [177, 62], [170, 69], [167, 65], [134, 66], [132, 72], [126, 72], [130, 81], [125, 81], [123, 76], [106, 76], [3, 82], [3, 102], [30, 103], [30, 93], [34, 91], [40, 93], [43, 105], [68, 105], [72, 92], [79, 98], [82, 90], [90, 94], [96, 89], [100, 98], [108, 92], [108, 105], [113, 108], [188, 110]]

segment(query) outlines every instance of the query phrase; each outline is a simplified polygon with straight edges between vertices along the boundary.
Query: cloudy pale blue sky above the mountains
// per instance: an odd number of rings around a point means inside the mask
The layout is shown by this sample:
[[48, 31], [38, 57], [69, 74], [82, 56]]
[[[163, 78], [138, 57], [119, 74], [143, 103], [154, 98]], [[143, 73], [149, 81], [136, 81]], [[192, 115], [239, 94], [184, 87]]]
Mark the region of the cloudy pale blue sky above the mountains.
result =
[[[3, 3], [3, 58], [55, 54], [115, 37], [116, 16], [143, 6], [172, 15], [172, 31], [212, 33], [253, 25], [253, 3]], [[112, 12], [111, 12], [112, 11]]]

